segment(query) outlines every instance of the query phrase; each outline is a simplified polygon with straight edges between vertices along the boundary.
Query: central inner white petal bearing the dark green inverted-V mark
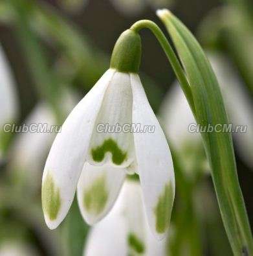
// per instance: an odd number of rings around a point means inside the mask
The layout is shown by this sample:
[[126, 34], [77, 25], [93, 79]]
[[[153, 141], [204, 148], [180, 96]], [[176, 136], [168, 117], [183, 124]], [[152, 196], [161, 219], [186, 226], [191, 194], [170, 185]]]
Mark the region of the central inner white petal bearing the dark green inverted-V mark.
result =
[[[125, 124], [132, 122], [132, 106], [130, 76], [127, 73], [116, 72], [105, 92], [93, 130], [89, 146], [89, 163], [110, 163], [114, 167], [128, 167], [133, 162], [133, 134], [121, 130]], [[109, 130], [104, 130], [106, 127]]]

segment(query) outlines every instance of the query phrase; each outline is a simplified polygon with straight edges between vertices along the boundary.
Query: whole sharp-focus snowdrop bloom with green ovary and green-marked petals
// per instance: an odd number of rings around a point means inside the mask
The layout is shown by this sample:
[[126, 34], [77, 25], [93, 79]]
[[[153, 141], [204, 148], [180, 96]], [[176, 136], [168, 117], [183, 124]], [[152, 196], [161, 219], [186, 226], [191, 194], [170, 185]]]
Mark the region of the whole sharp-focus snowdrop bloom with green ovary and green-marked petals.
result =
[[[173, 163], [137, 75], [140, 52], [140, 36], [133, 30], [122, 33], [110, 69], [72, 110], [56, 136], [42, 181], [43, 212], [50, 229], [65, 218], [77, 184], [83, 218], [94, 224], [110, 211], [126, 173], [137, 172], [149, 226], [157, 238], [166, 235], [175, 191]], [[99, 124], [155, 129], [100, 132]]]

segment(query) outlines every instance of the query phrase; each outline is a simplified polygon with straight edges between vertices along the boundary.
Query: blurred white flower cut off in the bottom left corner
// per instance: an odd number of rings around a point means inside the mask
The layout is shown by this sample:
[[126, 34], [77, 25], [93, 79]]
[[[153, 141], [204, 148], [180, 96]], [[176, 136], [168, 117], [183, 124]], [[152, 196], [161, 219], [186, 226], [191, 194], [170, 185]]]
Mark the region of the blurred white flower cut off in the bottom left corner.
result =
[[3, 241], [0, 244], [0, 256], [37, 256], [39, 253], [30, 244], [21, 241]]

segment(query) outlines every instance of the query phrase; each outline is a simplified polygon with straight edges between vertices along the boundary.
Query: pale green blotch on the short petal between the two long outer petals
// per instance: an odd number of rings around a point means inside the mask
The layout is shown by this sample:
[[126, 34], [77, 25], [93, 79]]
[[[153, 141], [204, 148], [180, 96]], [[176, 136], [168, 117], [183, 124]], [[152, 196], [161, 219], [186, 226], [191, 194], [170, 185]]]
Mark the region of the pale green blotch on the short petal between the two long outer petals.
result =
[[91, 187], [84, 192], [84, 207], [89, 213], [98, 215], [104, 210], [108, 197], [109, 195], [105, 185], [105, 176], [100, 176], [94, 180]]

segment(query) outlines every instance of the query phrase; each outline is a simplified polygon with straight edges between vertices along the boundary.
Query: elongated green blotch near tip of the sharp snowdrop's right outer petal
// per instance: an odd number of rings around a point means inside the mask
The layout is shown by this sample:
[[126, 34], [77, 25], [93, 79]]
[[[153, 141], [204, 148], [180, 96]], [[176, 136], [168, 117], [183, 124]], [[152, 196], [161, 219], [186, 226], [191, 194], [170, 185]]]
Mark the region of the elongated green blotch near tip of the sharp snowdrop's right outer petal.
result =
[[159, 196], [157, 206], [155, 207], [156, 230], [157, 233], [164, 233], [170, 224], [171, 209], [173, 206], [173, 187], [168, 183], [164, 191]]

